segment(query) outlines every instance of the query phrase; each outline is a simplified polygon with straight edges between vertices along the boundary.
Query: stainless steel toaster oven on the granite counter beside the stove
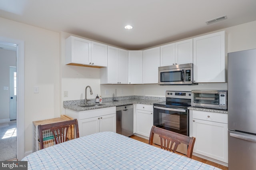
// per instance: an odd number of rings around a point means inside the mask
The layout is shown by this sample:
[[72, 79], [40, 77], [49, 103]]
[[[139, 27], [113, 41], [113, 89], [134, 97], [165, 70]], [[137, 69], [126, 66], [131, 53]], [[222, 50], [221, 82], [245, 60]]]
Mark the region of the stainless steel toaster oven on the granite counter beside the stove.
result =
[[227, 90], [192, 90], [193, 107], [228, 109]]

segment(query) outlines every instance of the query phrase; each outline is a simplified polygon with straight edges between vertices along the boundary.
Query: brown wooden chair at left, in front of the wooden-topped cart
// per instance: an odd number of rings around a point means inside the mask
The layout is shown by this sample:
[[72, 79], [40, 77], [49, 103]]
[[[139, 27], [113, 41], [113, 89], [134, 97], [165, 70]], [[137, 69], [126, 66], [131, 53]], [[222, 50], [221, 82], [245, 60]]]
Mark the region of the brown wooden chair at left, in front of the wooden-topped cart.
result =
[[55, 144], [59, 144], [62, 142], [66, 142], [68, 140], [68, 129], [71, 126], [74, 126], [76, 138], [79, 138], [79, 130], [78, 130], [78, 122], [77, 119], [73, 119], [70, 121], [62, 121], [57, 123], [50, 123], [46, 125], [38, 125], [39, 132], [39, 142], [41, 149], [44, 148], [43, 142], [43, 131], [50, 130], [54, 136]]

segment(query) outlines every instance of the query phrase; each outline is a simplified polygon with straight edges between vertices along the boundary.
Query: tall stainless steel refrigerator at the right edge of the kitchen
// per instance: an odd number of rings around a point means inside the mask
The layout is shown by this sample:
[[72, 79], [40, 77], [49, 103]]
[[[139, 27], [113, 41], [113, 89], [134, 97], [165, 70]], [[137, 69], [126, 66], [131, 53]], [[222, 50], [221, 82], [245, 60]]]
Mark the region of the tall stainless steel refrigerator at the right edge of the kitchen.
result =
[[256, 170], [256, 49], [228, 53], [228, 169]]

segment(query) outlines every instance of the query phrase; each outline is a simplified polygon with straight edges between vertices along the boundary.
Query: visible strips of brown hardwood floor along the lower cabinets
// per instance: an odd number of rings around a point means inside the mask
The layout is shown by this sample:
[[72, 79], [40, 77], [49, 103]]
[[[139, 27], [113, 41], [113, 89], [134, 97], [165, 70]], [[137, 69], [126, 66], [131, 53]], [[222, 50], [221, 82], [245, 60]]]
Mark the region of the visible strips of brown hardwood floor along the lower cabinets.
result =
[[[139, 140], [139, 141], [144, 142], [144, 143], [148, 143], [148, 140], [147, 140], [147, 139], [141, 138], [141, 137], [139, 137], [139, 136], [132, 135], [132, 136], [130, 136], [130, 138], [133, 138], [133, 139], [135, 139], [135, 140]], [[153, 144], [153, 146], [160, 147], [159, 145], [156, 145], [156, 144]], [[180, 154], [180, 155], [183, 155], [183, 154], [181, 154], [181, 153], [179, 153], [179, 152], [176, 152], [176, 153], [178, 153], [178, 154]], [[220, 169], [222, 169], [222, 170], [228, 170], [228, 167], [226, 167], [226, 166], [217, 164], [217, 163], [215, 163], [215, 162], [212, 162], [212, 161], [210, 161], [210, 160], [206, 160], [206, 159], [204, 159], [204, 158], [199, 158], [198, 156], [194, 156], [194, 155], [193, 155], [193, 156], [192, 156], [192, 159], [198, 160], [198, 161], [203, 162], [203, 163], [208, 164], [208, 165], [215, 166], [215, 167], [220, 168]]]

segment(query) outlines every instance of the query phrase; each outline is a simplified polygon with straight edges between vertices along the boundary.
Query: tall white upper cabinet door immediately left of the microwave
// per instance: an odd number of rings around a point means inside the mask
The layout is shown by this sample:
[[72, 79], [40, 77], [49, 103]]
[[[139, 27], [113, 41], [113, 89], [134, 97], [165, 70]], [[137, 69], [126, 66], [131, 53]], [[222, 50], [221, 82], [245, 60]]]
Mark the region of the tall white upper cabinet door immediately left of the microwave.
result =
[[143, 83], [158, 83], [158, 67], [160, 67], [160, 47], [143, 51]]

